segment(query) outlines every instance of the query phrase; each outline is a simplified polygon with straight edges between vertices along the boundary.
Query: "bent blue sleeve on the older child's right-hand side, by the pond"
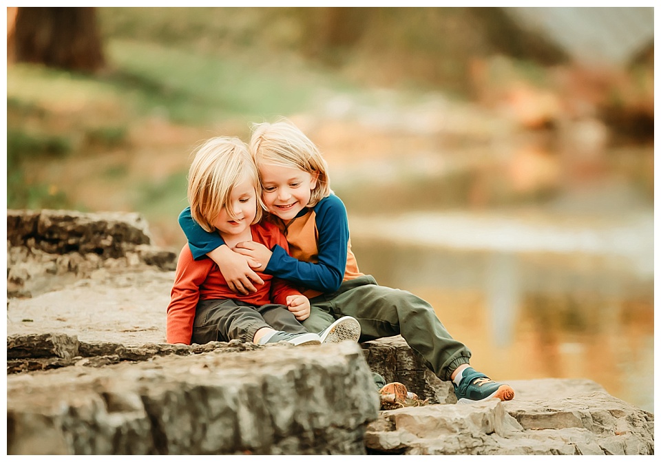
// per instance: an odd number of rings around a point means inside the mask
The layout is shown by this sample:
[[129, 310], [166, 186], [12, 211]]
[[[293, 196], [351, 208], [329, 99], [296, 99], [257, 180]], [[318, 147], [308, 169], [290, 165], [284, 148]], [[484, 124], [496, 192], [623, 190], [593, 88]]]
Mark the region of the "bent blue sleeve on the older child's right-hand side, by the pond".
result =
[[264, 272], [315, 291], [335, 292], [344, 280], [346, 269], [349, 241], [346, 208], [342, 200], [331, 195], [317, 204], [315, 213], [319, 262], [302, 262], [288, 255], [282, 247], [275, 246]]

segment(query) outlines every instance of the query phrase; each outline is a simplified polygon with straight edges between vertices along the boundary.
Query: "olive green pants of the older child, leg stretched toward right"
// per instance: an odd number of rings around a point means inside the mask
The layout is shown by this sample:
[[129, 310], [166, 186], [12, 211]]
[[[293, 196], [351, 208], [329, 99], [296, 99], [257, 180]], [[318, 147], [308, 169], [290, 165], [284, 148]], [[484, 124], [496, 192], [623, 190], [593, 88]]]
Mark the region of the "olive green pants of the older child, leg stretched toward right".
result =
[[450, 380], [457, 366], [468, 364], [470, 350], [450, 336], [428, 302], [379, 286], [370, 275], [344, 281], [336, 292], [314, 297], [310, 304], [311, 315], [302, 323], [310, 332], [351, 316], [360, 324], [360, 342], [401, 335], [441, 380]]

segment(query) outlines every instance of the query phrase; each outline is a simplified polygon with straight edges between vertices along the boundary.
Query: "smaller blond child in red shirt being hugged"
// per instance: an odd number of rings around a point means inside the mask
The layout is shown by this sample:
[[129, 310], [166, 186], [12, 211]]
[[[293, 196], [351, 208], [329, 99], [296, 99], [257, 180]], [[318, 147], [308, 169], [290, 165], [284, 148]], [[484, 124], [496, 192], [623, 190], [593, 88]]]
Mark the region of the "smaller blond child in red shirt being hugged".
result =
[[[211, 138], [198, 149], [189, 171], [188, 199], [191, 217], [200, 228], [228, 246], [254, 242], [286, 251], [280, 230], [269, 222], [260, 223], [258, 171], [238, 138]], [[193, 260], [186, 244], [167, 307], [167, 342], [240, 339], [256, 344], [320, 344], [319, 336], [300, 324], [310, 313], [307, 297], [273, 275], [263, 274], [262, 280], [257, 291], [236, 294], [216, 263], [206, 257]]]

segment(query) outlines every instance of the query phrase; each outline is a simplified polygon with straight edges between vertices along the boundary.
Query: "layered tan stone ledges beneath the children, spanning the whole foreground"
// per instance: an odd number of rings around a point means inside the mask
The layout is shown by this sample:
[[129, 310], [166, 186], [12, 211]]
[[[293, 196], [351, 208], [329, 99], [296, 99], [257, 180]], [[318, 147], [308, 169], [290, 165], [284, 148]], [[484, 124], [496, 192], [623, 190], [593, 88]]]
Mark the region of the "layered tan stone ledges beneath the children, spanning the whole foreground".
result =
[[[399, 336], [165, 344], [176, 254], [146, 230], [8, 212], [9, 454], [653, 454], [653, 414], [593, 381], [460, 405]], [[378, 412], [370, 368], [430, 405]]]

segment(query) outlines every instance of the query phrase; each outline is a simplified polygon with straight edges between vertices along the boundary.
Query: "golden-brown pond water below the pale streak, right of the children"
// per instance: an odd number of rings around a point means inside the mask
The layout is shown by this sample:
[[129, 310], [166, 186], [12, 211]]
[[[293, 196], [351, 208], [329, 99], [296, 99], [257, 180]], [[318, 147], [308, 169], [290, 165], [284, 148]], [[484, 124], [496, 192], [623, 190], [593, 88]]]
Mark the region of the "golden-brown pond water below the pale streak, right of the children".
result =
[[361, 239], [379, 284], [430, 302], [496, 379], [585, 378], [653, 412], [653, 277], [613, 257], [460, 251]]

